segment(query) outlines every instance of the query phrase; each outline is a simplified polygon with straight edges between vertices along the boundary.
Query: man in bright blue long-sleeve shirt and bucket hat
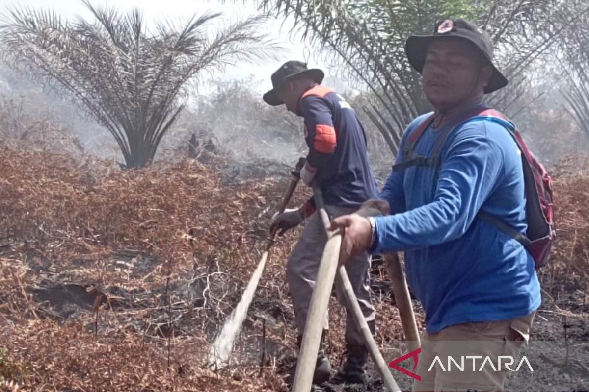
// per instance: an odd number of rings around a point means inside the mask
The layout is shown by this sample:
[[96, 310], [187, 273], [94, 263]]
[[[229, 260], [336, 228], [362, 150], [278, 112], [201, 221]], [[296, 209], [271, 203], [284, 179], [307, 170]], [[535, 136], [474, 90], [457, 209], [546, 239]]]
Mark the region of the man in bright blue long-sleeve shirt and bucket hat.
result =
[[492, 63], [487, 33], [463, 19], [410, 37], [405, 51], [423, 77], [433, 116], [409, 124], [396, 157], [399, 170], [379, 200], [365, 203], [385, 216], [342, 216], [333, 226], [345, 229], [348, 255], [405, 251], [409, 285], [425, 310], [415, 372], [422, 380], [414, 390], [502, 390], [505, 368], [447, 372], [431, 364], [435, 356], [445, 364], [452, 350], [459, 359], [462, 347], [444, 344], [449, 340], [478, 341], [462, 355], [489, 356], [495, 364], [498, 356], [517, 356], [541, 303], [531, 255], [482, 218], [486, 213], [521, 233], [527, 229], [517, 144], [503, 125], [469, 114], [484, 108], [484, 94], [507, 79]]

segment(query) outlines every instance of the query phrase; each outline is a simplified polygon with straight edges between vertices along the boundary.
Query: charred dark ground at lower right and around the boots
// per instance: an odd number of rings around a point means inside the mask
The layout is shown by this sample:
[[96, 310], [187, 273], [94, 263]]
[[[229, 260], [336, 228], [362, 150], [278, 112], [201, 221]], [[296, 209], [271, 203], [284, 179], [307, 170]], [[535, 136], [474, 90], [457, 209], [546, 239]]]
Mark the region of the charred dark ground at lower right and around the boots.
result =
[[[413, 301], [414, 309], [420, 309]], [[383, 350], [391, 353], [394, 359], [406, 353], [392, 348]], [[589, 391], [589, 303], [587, 295], [580, 290], [562, 294], [558, 300], [552, 299], [544, 293], [544, 300], [538, 310], [528, 347], [522, 349], [534, 368], [534, 373], [510, 373], [506, 391], [559, 391], [583, 392]], [[402, 363], [403, 367], [411, 370], [411, 360]], [[396, 373], [393, 377], [403, 391], [410, 391], [412, 378], [405, 374]], [[369, 365], [369, 384], [366, 387], [341, 386], [328, 384], [317, 391], [324, 392], [384, 392], [386, 389], [371, 362]]]

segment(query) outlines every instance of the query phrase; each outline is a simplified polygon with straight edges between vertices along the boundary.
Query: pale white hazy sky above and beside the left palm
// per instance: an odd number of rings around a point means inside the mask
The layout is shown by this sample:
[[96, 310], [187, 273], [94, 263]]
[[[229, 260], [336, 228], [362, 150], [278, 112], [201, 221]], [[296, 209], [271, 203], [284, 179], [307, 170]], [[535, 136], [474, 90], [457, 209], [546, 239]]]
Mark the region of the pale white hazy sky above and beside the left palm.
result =
[[[235, 20], [236, 18], [243, 18], [246, 15], [252, 15], [256, 12], [254, 5], [249, 2], [243, 5], [243, 1], [237, 0], [226, 1], [226, 4], [220, 5], [216, 1], [187, 1], [187, 0], [94, 0], [92, 4], [95, 5], [116, 5], [118, 9], [126, 10], [134, 7], [139, 7], [143, 10], [145, 19], [153, 21], [154, 19], [168, 17], [171, 19], [188, 18], [194, 13], [202, 14], [203, 12], [214, 10], [223, 11], [227, 18]], [[0, 10], [4, 14], [6, 6], [31, 6], [34, 8], [54, 9], [62, 16], [74, 18], [75, 16], [82, 16], [85, 19], [91, 20], [92, 16], [85, 8], [80, 0], [0, 0]], [[225, 72], [217, 73], [217, 77], [237, 79], [245, 78], [249, 75], [254, 75], [257, 79], [262, 79], [263, 83], [258, 86], [259, 91], [265, 91], [272, 85], [270, 83], [270, 75], [278, 68], [278, 66], [288, 59], [300, 59], [309, 62], [309, 66], [324, 66], [319, 59], [319, 53], [310, 50], [308, 45], [303, 45], [300, 42], [294, 42], [294, 39], [289, 36], [289, 25], [285, 24], [281, 31], [282, 20], [272, 21], [269, 24], [268, 32], [271, 36], [277, 38], [289, 52], [283, 54], [283, 58], [276, 62], [264, 62], [261, 64], [240, 64], [239, 66], [232, 66], [226, 69]], [[326, 72], [328, 73], [328, 72]], [[207, 89], [206, 86], [203, 86]]]

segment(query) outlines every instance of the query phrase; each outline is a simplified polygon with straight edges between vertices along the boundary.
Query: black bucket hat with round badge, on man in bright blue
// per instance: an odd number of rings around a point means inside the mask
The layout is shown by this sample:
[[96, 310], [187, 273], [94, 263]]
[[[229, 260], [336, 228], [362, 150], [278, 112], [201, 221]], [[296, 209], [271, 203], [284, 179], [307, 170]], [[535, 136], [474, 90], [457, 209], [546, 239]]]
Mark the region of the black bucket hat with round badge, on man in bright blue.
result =
[[489, 79], [489, 83], [484, 90], [485, 94], [492, 93], [507, 86], [507, 83], [509, 83], [508, 80], [493, 64], [493, 43], [491, 37], [486, 31], [482, 31], [464, 19], [455, 19], [454, 21], [446, 19], [436, 24], [433, 35], [412, 35], [407, 39], [407, 42], [405, 42], [405, 54], [415, 71], [421, 73], [429, 44], [435, 39], [443, 37], [465, 39], [474, 43], [477, 49], [479, 49], [493, 69], [491, 79]]

